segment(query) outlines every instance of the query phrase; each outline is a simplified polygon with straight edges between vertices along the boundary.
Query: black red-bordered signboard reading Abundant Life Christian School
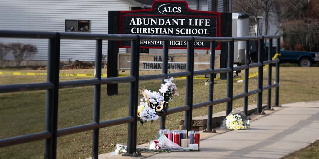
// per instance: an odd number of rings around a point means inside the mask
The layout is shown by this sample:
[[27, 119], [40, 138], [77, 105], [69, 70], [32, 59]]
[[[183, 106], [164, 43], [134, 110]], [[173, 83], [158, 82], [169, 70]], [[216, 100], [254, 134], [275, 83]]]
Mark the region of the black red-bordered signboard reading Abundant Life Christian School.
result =
[[[186, 1], [154, 1], [151, 9], [120, 11], [119, 34], [220, 37], [221, 13], [190, 10]], [[163, 41], [141, 40], [140, 48], [160, 49]], [[220, 49], [216, 42], [216, 49]], [[120, 48], [130, 48], [121, 41]], [[170, 41], [170, 49], [186, 49], [186, 41]], [[210, 42], [195, 42], [195, 49], [210, 49]]]

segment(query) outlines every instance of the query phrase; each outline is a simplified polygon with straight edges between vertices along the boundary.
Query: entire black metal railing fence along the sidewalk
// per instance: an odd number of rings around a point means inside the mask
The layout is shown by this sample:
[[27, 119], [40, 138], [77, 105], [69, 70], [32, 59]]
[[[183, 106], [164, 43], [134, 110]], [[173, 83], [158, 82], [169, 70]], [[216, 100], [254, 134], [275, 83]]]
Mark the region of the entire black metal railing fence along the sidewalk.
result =
[[[279, 100], [279, 59], [271, 60], [272, 39], [277, 38], [277, 53], [280, 51], [279, 36], [257, 36], [257, 37], [238, 37], [238, 38], [216, 38], [216, 37], [191, 37], [191, 36], [152, 36], [152, 35], [118, 35], [118, 34], [93, 34], [93, 33], [70, 33], [70, 32], [38, 32], [38, 31], [0, 31], [0, 37], [7, 38], [48, 38], [48, 76], [47, 82], [31, 84], [1, 85], [0, 93], [47, 90], [46, 95], [46, 117], [45, 131], [21, 135], [10, 138], [0, 139], [0, 148], [11, 145], [45, 140], [44, 158], [56, 158], [57, 137], [70, 135], [74, 133], [93, 130], [92, 158], [97, 159], [99, 154], [99, 129], [114, 125], [128, 123], [128, 155], [134, 155], [137, 145], [137, 104], [138, 104], [138, 83], [139, 81], [165, 79], [168, 77], [186, 76], [186, 95], [185, 105], [168, 109], [167, 114], [185, 112], [185, 129], [191, 130], [192, 110], [202, 107], [208, 108], [208, 131], [212, 130], [213, 105], [226, 103], [226, 114], [233, 109], [233, 100], [244, 98], [244, 113], [247, 114], [248, 96], [257, 93], [257, 113], [262, 113], [262, 93], [268, 90], [267, 108], [271, 109], [271, 88], [276, 88], [275, 106], [278, 106]], [[96, 40], [95, 54], [95, 78], [73, 81], [59, 81], [59, 63], [60, 63], [60, 40], [61, 39], [85, 39]], [[263, 41], [270, 39], [268, 60], [263, 61]], [[101, 78], [101, 58], [102, 58], [102, 40], [130, 40], [130, 76]], [[139, 43], [140, 40], [161, 40], [163, 43], [163, 68], [162, 74], [152, 74], [139, 76]], [[249, 64], [249, 40], [258, 40], [258, 63]], [[168, 63], [168, 41], [188, 41], [187, 43], [187, 70], [185, 72], [167, 73]], [[194, 42], [210, 41], [211, 56], [210, 69], [194, 71]], [[214, 69], [215, 41], [228, 43], [228, 66], [227, 68]], [[234, 67], [234, 41], [246, 41], [245, 65]], [[224, 52], [222, 52], [224, 53]], [[226, 52], [225, 52], [226, 53]], [[276, 82], [271, 84], [271, 64], [276, 63]], [[268, 84], [263, 86], [263, 65], [268, 64]], [[258, 88], [248, 91], [249, 68], [258, 67]], [[245, 69], [244, 93], [233, 96], [233, 71]], [[222, 99], [213, 99], [214, 76], [217, 73], [227, 73], [227, 97]], [[203, 103], [193, 104], [193, 77], [197, 75], [209, 74], [209, 100]], [[127, 83], [130, 82], [129, 94], [129, 114], [128, 117], [100, 121], [100, 96], [101, 85]], [[162, 81], [163, 82], [163, 81]], [[70, 87], [94, 86], [93, 102], [93, 123], [79, 125], [70, 128], [57, 129], [58, 124], [58, 90]], [[165, 116], [162, 116], [160, 128], [165, 129]]]

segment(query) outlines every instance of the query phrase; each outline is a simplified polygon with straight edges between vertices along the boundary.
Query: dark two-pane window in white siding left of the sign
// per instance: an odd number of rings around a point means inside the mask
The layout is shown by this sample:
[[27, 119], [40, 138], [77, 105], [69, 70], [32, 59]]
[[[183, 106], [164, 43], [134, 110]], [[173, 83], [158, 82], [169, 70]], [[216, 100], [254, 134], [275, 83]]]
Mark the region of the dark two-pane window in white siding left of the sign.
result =
[[90, 32], [90, 20], [65, 20], [67, 32]]

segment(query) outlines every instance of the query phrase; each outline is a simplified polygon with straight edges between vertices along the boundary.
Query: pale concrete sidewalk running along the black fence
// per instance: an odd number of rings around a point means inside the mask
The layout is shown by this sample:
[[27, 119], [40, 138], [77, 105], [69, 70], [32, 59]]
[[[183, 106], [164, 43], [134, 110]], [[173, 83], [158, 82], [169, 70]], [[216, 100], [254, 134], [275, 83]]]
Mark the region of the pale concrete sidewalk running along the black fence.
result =
[[252, 115], [252, 120], [257, 120], [249, 129], [202, 140], [200, 152], [160, 153], [147, 158], [281, 158], [319, 139], [319, 101], [282, 106], [265, 111], [266, 115]]

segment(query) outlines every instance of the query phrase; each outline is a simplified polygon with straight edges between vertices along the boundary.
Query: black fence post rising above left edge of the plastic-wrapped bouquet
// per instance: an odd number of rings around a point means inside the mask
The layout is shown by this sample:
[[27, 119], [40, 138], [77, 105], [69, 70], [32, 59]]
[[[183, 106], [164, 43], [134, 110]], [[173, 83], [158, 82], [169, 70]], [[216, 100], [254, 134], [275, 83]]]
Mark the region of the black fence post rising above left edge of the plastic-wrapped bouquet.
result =
[[228, 42], [227, 67], [231, 69], [227, 73], [227, 97], [230, 101], [226, 103], [226, 115], [233, 111], [233, 83], [234, 83], [234, 38]]

